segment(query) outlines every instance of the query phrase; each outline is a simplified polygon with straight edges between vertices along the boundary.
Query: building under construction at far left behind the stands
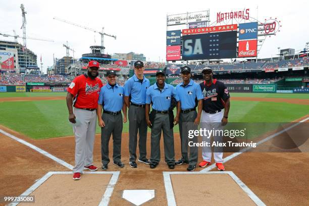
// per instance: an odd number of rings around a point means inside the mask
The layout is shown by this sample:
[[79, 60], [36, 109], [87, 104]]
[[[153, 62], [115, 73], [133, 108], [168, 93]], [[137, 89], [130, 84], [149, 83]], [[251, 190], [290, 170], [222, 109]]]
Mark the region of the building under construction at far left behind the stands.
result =
[[30, 49], [25, 48], [22, 44], [14, 41], [0, 40], [0, 52], [3, 51], [14, 53], [14, 67], [12, 66], [12, 68], [10, 68], [11, 72], [25, 73], [26, 69], [39, 70], [37, 66], [37, 56]]

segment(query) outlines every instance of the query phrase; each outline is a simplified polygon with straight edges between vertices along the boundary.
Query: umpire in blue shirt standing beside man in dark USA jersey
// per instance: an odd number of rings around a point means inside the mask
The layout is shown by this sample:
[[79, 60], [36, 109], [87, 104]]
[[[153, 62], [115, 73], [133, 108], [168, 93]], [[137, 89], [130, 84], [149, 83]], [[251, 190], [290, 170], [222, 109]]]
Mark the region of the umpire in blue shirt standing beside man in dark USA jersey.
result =
[[[189, 163], [188, 171], [193, 171], [197, 164], [198, 149], [190, 147], [188, 157], [188, 131], [197, 130], [202, 112], [202, 91], [200, 86], [194, 82], [191, 77], [191, 69], [187, 66], [181, 68], [181, 78], [183, 82], [176, 86], [176, 91], [181, 102], [181, 112], [179, 116], [179, 133], [181, 142], [181, 159], [176, 162], [176, 165]], [[196, 113], [196, 107], [198, 109]], [[190, 139], [197, 142], [197, 137]]]

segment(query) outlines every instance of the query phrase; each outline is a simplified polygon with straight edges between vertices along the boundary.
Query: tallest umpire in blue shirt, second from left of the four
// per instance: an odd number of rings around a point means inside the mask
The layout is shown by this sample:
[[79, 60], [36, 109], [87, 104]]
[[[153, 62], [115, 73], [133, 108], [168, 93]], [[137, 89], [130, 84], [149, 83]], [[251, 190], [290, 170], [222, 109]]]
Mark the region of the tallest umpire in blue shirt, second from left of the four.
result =
[[146, 158], [147, 123], [145, 120], [146, 90], [150, 86], [149, 80], [144, 76], [144, 64], [141, 61], [134, 63], [133, 77], [124, 85], [125, 104], [129, 108], [129, 152], [130, 167], [136, 168], [137, 132], [139, 134], [138, 162], [149, 165]]

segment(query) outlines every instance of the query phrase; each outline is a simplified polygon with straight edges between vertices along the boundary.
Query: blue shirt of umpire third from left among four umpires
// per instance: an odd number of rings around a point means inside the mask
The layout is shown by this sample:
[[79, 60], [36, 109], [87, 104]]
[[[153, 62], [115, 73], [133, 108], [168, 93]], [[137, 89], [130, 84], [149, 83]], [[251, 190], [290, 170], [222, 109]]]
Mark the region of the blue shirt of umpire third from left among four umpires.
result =
[[171, 106], [172, 96], [179, 101], [175, 87], [165, 83], [162, 91], [158, 88], [157, 83], [151, 85], [146, 92], [146, 104], [151, 103], [152, 109], [158, 111], [168, 111]]

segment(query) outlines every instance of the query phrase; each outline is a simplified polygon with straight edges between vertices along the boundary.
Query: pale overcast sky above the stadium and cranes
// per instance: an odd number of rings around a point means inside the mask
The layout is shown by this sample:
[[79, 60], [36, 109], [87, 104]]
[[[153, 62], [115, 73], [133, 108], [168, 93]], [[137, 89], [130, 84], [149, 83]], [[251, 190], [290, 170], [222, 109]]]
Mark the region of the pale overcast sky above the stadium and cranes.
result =
[[[53, 65], [55, 58], [66, 56], [63, 44], [76, 52], [75, 58], [90, 53], [90, 45], [100, 45], [100, 35], [89, 30], [66, 24], [58, 17], [83, 26], [116, 35], [105, 36], [105, 53], [142, 53], [147, 61], [165, 61], [166, 17], [179, 14], [210, 10], [210, 21], [214, 22], [217, 12], [250, 10], [250, 16], [265, 19], [277, 18], [282, 27], [276, 36], [268, 37], [259, 53], [259, 58], [276, 57], [278, 47], [302, 50], [309, 42], [307, 21], [309, 2], [297, 4], [279, 1], [5, 1], [0, 0], [0, 32], [22, 36], [22, 15], [20, 5], [24, 4], [27, 20], [27, 36], [53, 39], [55, 42], [27, 40], [27, 47], [37, 55], [40, 67], [42, 56], [43, 71]], [[257, 9], [258, 8], [258, 9]], [[171, 30], [171, 29], [169, 29]], [[13, 37], [0, 36], [0, 40], [14, 41]], [[22, 39], [18, 40], [22, 43]], [[70, 56], [73, 56], [70, 51]]]

